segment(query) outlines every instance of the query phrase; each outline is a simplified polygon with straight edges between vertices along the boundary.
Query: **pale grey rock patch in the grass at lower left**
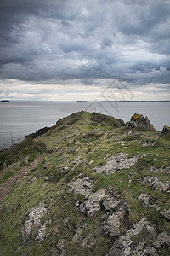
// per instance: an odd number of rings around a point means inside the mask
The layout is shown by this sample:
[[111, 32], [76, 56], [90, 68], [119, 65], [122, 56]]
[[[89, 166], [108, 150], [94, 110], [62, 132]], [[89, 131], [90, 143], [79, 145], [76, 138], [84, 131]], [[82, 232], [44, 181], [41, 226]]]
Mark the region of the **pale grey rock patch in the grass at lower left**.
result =
[[34, 241], [37, 243], [41, 243], [45, 239], [47, 223], [42, 224], [41, 218], [46, 213], [47, 209], [44, 207], [43, 201], [41, 201], [38, 206], [31, 207], [31, 209], [26, 212], [26, 221], [21, 228], [21, 236], [24, 243], [31, 243], [31, 233], [37, 234], [34, 238]]

